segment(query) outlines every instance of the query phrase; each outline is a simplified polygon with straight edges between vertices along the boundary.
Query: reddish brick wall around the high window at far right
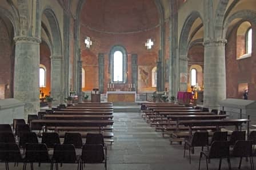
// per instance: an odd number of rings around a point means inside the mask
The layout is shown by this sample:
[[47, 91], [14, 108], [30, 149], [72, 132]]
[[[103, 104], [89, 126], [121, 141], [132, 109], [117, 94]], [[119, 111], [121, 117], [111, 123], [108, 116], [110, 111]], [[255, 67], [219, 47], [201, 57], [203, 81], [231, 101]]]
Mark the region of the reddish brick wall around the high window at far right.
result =
[[[245, 50], [245, 39], [237, 37], [235, 27], [227, 37], [226, 44], [226, 87], [227, 98], [242, 99], [242, 91], [238, 90], [239, 84], [248, 83], [248, 99], [256, 100], [256, 59], [255, 59], [255, 26], [253, 27], [253, 53], [251, 57], [237, 60], [237, 49]], [[242, 40], [242, 41], [241, 41]], [[237, 43], [240, 42], [240, 43]], [[243, 54], [243, 52], [241, 52]]]

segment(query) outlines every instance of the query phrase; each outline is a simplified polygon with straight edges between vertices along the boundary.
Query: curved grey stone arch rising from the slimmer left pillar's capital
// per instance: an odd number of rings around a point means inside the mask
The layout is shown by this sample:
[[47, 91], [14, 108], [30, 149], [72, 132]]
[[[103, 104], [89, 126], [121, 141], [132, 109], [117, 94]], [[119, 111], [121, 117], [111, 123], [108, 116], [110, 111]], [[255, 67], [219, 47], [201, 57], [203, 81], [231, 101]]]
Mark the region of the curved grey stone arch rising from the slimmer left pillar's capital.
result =
[[[61, 31], [59, 29], [59, 23], [58, 20], [54, 14], [54, 11], [47, 7], [45, 10], [43, 10], [43, 13], [45, 14], [51, 29], [51, 35], [52, 35], [52, 55], [62, 55], [62, 40], [61, 40]], [[54, 36], [53, 36], [54, 35]]]

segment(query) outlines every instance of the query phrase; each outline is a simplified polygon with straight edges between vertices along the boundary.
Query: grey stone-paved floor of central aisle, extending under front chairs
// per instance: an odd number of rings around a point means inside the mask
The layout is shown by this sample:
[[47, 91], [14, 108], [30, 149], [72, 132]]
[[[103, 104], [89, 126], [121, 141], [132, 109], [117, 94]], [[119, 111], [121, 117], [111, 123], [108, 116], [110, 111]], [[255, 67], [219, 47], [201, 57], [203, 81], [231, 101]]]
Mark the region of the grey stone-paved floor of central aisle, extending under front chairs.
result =
[[[109, 170], [178, 170], [198, 169], [199, 149], [195, 149], [195, 155], [183, 158], [183, 146], [169, 144], [167, 138], [163, 138], [160, 132], [155, 132], [153, 127], [141, 118], [139, 112], [115, 112], [114, 113], [114, 140], [112, 146], [108, 147], [107, 169]], [[232, 169], [238, 169], [238, 159], [231, 159]], [[5, 169], [5, 164], [0, 164], [0, 170]], [[13, 167], [10, 169], [22, 169]], [[30, 169], [30, 167], [27, 167]], [[50, 169], [50, 165], [42, 164], [34, 169]], [[65, 164], [63, 170], [77, 169], [76, 165]], [[105, 169], [103, 164], [89, 165], [85, 169]], [[201, 169], [206, 169], [205, 159], [202, 159]], [[211, 160], [209, 169], [218, 169], [218, 160]], [[226, 160], [222, 161], [222, 169], [227, 169]], [[249, 162], [242, 161], [241, 169], [250, 169]]]

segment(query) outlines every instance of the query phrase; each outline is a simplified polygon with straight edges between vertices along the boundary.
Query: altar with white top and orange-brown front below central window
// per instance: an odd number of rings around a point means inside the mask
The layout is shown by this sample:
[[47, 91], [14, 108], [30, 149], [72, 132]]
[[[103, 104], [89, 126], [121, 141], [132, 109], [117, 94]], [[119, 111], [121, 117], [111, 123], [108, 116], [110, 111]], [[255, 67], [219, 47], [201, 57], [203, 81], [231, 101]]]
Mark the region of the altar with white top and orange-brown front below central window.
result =
[[135, 91], [107, 91], [107, 102], [135, 102]]

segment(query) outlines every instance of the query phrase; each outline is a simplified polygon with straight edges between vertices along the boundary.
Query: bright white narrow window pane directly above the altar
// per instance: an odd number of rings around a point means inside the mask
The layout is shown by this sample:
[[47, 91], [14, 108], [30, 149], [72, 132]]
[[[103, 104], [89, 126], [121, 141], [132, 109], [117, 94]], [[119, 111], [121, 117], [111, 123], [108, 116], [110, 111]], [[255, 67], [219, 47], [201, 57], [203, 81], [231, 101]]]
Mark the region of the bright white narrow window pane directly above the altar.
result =
[[114, 52], [114, 82], [123, 82], [123, 54], [121, 51]]

